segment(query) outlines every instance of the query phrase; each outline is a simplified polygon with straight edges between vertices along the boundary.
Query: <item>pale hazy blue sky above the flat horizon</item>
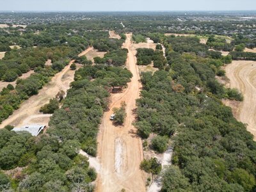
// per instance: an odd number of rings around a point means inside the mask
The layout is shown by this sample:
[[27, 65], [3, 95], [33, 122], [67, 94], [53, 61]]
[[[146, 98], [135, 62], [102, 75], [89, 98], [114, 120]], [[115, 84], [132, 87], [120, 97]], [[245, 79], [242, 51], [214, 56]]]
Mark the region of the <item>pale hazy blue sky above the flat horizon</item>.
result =
[[1, 11], [256, 10], [256, 0], [0, 0], [0, 4]]

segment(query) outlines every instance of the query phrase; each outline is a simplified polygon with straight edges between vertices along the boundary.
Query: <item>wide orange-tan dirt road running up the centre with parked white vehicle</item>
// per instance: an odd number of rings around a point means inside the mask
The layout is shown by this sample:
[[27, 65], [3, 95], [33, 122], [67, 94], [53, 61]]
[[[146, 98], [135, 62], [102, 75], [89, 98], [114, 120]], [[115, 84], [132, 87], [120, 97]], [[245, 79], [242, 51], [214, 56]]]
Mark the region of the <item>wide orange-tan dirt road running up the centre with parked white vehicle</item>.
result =
[[[128, 49], [127, 68], [133, 77], [124, 92], [111, 95], [109, 111], [104, 113], [98, 134], [98, 157], [101, 170], [97, 179], [97, 191], [116, 192], [146, 191], [145, 175], [140, 170], [143, 160], [143, 148], [140, 138], [136, 136], [136, 128], [132, 125], [136, 108], [136, 99], [140, 96], [141, 84], [136, 58], [132, 52], [131, 34], [127, 34], [124, 48]], [[119, 107], [121, 102], [127, 104], [124, 126], [115, 127], [109, 116], [113, 108]]]

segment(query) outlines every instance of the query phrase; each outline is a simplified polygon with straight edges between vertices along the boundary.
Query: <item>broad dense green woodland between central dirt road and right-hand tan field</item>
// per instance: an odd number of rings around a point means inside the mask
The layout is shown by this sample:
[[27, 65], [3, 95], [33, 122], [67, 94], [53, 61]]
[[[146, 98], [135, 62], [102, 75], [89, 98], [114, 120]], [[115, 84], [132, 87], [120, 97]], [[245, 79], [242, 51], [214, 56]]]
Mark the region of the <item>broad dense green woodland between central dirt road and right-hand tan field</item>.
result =
[[141, 74], [137, 100], [138, 134], [157, 134], [150, 147], [164, 152], [167, 138], [174, 140], [173, 165], [162, 173], [161, 191], [253, 191], [256, 145], [221, 104], [222, 97], [241, 96], [214, 79], [223, 60], [180, 52], [166, 52], [170, 71]]

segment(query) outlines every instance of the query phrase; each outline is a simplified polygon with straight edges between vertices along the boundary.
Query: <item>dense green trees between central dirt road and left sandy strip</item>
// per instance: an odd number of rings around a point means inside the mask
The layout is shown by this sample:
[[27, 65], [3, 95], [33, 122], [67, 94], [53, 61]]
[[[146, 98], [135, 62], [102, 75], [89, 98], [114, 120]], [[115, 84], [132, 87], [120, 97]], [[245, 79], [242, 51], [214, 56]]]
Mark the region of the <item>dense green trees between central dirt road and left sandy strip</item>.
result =
[[35, 138], [26, 132], [1, 129], [1, 169], [27, 167], [15, 179], [0, 173], [0, 188], [7, 185], [19, 191], [93, 191], [90, 182], [96, 179], [95, 170], [79, 150], [95, 156], [100, 118], [108, 109], [113, 82], [125, 86], [131, 76], [122, 67], [80, 68], [63, 106], [54, 111], [46, 134]]

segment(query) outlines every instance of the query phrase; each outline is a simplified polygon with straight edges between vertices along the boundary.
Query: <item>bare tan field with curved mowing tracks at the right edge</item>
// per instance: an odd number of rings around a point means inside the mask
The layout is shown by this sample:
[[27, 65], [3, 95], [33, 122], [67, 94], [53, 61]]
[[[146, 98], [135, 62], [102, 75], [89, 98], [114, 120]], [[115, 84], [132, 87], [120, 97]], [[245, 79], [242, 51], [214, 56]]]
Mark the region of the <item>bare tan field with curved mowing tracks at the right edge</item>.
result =
[[232, 61], [225, 67], [230, 79], [230, 88], [237, 88], [244, 95], [238, 106], [234, 102], [225, 102], [235, 111], [237, 120], [247, 124], [247, 130], [256, 139], [256, 61]]

